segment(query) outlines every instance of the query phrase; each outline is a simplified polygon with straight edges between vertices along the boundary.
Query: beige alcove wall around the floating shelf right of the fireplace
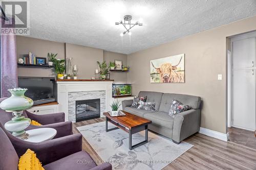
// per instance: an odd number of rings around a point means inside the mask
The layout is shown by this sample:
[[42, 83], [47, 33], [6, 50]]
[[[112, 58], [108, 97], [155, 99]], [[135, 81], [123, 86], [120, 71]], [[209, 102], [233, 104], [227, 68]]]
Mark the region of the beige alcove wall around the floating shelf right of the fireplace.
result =
[[[123, 65], [127, 65], [127, 55], [120, 53], [113, 53], [103, 51], [103, 60], [107, 64], [114, 62], [115, 60], [121, 60]], [[110, 71], [110, 78], [115, 80], [115, 83], [127, 83], [127, 72]]]

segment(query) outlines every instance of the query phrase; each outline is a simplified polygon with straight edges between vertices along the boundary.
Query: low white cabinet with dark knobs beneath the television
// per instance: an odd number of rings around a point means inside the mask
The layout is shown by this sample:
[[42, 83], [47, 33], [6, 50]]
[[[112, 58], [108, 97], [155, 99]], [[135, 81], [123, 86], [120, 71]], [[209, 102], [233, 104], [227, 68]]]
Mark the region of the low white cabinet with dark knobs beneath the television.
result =
[[57, 106], [58, 105], [33, 106], [30, 109], [28, 109], [28, 111], [34, 114], [57, 113]]

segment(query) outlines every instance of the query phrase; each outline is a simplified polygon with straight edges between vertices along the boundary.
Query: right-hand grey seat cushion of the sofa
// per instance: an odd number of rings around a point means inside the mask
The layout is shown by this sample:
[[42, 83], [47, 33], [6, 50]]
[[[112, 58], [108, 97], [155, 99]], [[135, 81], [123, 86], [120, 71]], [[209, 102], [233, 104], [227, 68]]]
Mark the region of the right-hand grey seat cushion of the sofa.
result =
[[151, 120], [152, 124], [156, 124], [158, 126], [162, 126], [168, 129], [173, 129], [174, 118], [169, 116], [168, 113], [161, 111], [146, 113], [144, 114], [144, 118]]

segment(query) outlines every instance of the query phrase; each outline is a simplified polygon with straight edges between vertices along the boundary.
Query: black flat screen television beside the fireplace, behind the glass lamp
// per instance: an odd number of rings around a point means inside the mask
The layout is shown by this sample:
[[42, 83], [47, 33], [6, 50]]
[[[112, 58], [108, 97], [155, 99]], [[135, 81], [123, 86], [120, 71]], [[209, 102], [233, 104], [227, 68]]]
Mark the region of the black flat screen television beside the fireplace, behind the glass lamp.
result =
[[25, 95], [34, 101], [33, 106], [57, 99], [54, 77], [18, 77], [18, 87], [28, 89]]

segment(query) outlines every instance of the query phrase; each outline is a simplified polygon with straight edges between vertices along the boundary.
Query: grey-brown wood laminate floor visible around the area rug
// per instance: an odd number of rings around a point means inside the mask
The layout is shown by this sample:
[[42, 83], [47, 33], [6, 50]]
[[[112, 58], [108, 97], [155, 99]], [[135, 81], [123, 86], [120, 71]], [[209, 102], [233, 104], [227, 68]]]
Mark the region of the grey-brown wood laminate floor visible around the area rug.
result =
[[[73, 132], [79, 133], [76, 127], [104, 121], [104, 118], [85, 120], [73, 124]], [[256, 150], [234, 142], [225, 142], [200, 133], [184, 141], [194, 145], [163, 169], [256, 169]], [[82, 147], [92, 158], [102, 161], [91, 145], [83, 138]]]

